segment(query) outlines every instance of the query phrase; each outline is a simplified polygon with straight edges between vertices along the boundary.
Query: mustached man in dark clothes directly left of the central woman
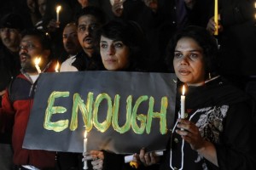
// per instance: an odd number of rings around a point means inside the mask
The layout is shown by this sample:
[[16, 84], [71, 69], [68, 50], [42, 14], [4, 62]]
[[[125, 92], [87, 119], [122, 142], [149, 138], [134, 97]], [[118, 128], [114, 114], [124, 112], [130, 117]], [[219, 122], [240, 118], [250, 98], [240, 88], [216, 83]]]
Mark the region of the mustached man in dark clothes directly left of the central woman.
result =
[[79, 71], [101, 70], [102, 61], [99, 50], [96, 49], [96, 31], [105, 24], [105, 14], [102, 9], [88, 6], [79, 11], [77, 18], [78, 37], [83, 50], [73, 62]]

